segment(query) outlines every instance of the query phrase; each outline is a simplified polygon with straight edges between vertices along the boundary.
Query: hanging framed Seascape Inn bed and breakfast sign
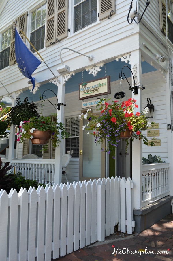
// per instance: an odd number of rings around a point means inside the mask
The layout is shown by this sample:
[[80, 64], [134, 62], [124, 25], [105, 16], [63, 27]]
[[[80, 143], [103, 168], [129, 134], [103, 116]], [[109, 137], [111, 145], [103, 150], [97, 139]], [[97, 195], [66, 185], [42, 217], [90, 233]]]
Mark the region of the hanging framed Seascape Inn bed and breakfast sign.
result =
[[110, 76], [79, 84], [79, 100], [110, 93]]

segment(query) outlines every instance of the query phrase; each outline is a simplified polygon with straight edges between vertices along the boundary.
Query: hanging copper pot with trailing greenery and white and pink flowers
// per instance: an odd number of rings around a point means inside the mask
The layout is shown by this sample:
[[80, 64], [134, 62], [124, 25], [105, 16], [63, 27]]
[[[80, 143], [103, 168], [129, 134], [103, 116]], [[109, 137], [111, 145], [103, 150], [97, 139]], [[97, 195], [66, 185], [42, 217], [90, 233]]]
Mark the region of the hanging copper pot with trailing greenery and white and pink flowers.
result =
[[[17, 133], [17, 141], [23, 142], [24, 139], [31, 139], [33, 144], [47, 144], [51, 138], [53, 147], [58, 147], [60, 138], [67, 138], [68, 133], [65, 131], [62, 122], [51, 121], [50, 116], [32, 117], [27, 121], [20, 122], [20, 131]], [[46, 150], [46, 148], [43, 148]]]

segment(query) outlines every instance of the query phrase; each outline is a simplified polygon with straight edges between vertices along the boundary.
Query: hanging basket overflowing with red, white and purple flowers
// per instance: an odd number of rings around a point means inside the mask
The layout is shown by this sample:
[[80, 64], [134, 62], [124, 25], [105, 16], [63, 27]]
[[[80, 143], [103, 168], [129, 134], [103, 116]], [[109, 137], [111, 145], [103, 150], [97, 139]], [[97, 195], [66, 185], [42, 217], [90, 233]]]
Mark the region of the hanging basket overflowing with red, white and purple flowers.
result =
[[[126, 141], [126, 154], [127, 146], [129, 144], [129, 138], [134, 140], [142, 139], [144, 144], [148, 145], [148, 139], [142, 134], [142, 130], [145, 127], [150, 126], [150, 122], [146, 118], [148, 108], [145, 108], [142, 113], [134, 113], [134, 108], [138, 108], [135, 99], [128, 99], [118, 104], [118, 101], [111, 101], [110, 99], [101, 99], [97, 104], [101, 114], [99, 116], [90, 113], [90, 109], [86, 114], [79, 115], [79, 118], [88, 120], [88, 123], [82, 127], [82, 129], [88, 131], [88, 135], [91, 134], [95, 137], [95, 143], [102, 143], [104, 139], [107, 139], [108, 146], [106, 150], [102, 151], [113, 152], [113, 159], [115, 159], [115, 148], [118, 146], [121, 138]], [[89, 132], [92, 131], [92, 132]], [[126, 136], [125, 134], [128, 133]], [[153, 145], [150, 143], [151, 146]]]

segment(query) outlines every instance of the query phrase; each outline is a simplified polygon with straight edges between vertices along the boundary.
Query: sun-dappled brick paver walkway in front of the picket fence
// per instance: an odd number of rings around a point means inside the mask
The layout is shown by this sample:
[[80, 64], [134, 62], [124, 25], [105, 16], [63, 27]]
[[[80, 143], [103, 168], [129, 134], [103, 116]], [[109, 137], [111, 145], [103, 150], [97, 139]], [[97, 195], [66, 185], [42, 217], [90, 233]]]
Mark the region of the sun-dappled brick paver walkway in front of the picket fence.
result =
[[[171, 222], [172, 221], [172, 222]], [[146, 253], [139, 252], [140, 250]], [[113, 251], [116, 251], [114, 254]], [[123, 251], [123, 253], [122, 253]], [[130, 252], [127, 254], [127, 251]], [[136, 251], [136, 253], [135, 253]], [[165, 252], [163, 252], [165, 251]], [[138, 253], [139, 252], [139, 253]], [[141, 253], [141, 255], [140, 255]], [[84, 247], [56, 261], [173, 261], [173, 214], [132, 238]]]

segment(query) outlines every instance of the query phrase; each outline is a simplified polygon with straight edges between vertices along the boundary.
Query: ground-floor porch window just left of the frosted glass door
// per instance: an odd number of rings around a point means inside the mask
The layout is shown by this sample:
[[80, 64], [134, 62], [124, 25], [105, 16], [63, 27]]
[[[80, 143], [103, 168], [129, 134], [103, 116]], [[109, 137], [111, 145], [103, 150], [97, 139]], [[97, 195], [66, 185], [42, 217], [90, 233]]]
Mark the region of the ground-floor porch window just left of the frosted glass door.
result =
[[65, 139], [65, 154], [72, 158], [79, 157], [79, 117], [71, 117], [65, 120], [66, 131], [69, 138]]

